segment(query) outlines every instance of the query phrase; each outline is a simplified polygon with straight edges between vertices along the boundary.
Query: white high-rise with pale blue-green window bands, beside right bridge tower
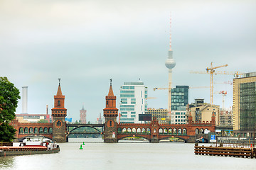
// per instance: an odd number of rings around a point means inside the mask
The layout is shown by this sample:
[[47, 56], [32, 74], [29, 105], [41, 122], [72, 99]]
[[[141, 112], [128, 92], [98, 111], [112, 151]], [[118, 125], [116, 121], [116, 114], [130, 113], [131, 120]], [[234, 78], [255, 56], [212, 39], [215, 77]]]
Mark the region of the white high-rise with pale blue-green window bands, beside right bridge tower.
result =
[[147, 88], [142, 81], [124, 82], [120, 89], [120, 123], [141, 123], [139, 114], [147, 109]]

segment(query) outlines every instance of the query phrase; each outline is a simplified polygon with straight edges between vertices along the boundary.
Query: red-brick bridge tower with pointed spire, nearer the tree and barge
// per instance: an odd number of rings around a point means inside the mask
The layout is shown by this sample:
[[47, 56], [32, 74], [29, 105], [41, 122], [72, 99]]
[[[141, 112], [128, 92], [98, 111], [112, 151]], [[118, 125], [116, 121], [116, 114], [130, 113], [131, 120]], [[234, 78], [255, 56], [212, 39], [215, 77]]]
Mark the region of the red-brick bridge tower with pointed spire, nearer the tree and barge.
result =
[[59, 86], [56, 96], [54, 96], [54, 108], [52, 108], [53, 116], [53, 141], [66, 142], [66, 124], [65, 117], [67, 109], [64, 107], [65, 96], [63, 96]]

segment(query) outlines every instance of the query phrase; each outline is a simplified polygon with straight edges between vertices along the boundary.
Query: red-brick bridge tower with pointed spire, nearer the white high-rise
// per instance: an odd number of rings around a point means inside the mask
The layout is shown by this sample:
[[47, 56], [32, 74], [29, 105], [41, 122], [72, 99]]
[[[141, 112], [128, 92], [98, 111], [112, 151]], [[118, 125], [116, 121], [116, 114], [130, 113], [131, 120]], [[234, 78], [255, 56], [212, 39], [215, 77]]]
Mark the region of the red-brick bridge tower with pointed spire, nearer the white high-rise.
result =
[[112, 79], [110, 79], [110, 91], [106, 96], [106, 108], [103, 109], [105, 117], [104, 127], [104, 142], [117, 142], [117, 115], [118, 109], [116, 108], [117, 97], [114, 96], [112, 89]]

